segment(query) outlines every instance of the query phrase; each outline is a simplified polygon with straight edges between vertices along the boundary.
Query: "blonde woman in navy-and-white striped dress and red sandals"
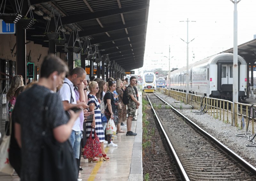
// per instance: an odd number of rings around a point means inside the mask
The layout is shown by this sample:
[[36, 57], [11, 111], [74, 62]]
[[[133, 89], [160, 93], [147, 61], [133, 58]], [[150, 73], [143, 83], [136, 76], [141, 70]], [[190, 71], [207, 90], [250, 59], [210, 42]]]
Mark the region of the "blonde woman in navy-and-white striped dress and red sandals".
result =
[[[105, 141], [105, 135], [101, 123], [101, 114], [100, 114], [100, 103], [98, 102], [98, 99], [96, 97], [96, 93], [99, 91], [98, 83], [95, 81], [90, 82], [89, 84], [89, 90], [90, 93], [88, 94], [88, 105], [89, 105], [89, 111], [94, 112], [93, 120], [87, 120], [86, 121], [86, 137], [87, 139], [90, 136], [92, 128], [95, 128], [96, 134], [100, 139], [100, 146], [102, 150], [102, 156], [100, 158], [100, 161], [108, 161], [110, 158], [106, 155], [106, 152], [104, 150], [104, 141]], [[92, 132], [92, 137], [94, 137], [94, 131]], [[89, 162], [99, 162], [97, 158], [92, 158], [88, 160]]]

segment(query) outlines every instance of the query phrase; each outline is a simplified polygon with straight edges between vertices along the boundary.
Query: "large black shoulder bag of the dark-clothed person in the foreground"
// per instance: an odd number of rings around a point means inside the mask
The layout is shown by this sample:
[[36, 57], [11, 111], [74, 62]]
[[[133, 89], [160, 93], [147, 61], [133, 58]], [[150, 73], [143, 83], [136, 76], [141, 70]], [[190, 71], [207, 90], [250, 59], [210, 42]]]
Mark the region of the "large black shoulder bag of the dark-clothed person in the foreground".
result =
[[[51, 94], [51, 93], [50, 93]], [[41, 147], [40, 181], [77, 181], [75, 161], [70, 143], [55, 140], [49, 122], [45, 119], [48, 110], [46, 96], [43, 108], [43, 143]]]

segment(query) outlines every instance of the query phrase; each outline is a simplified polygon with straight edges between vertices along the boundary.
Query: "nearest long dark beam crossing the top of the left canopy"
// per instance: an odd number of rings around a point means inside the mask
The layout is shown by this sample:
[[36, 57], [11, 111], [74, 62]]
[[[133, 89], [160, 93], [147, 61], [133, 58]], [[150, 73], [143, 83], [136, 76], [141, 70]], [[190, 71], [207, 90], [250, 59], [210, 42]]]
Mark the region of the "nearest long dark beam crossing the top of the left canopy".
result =
[[[62, 25], [67, 25], [67, 24], [72, 24], [72, 23], [78, 23], [81, 21], [87, 21], [91, 19], [96, 19], [96, 18], [102, 18], [102, 17], [107, 17], [107, 16], [112, 16], [116, 14], [121, 14], [121, 13], [126, 13], [126, 12], [131, 12], [131, 11], [138, 11], [138, 10], [143, 10], [147, 9], [149, 7], [148, 4], [143, 4], [143, 5], [137, 5], [137, 6], [131, 6], [131, 7], [125, 7], [122, 9], [113, 9], [111, 11], [109, 10], [103, 10], [103, 11], [97, 11], [97, 12], [88, 12], [88, 13], [80, 13], [76, 15], [70, 15], [67, 17], [61, 18]], [[51, 24], [54, 24], [54, 20], [51, 20]]]

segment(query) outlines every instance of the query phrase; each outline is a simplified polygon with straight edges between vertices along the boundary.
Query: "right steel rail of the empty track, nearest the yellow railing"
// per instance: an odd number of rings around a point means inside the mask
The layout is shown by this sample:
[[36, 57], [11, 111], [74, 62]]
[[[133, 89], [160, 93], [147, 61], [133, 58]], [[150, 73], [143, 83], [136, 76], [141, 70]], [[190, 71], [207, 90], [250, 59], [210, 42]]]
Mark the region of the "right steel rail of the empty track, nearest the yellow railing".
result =
[[211, 134], [204, 131], [201, 127], [196, 125], [193, 121], [188, 119], [185, 115], [183, 115], [181, 112], [176, 110], [172, 105], [168, 104], [164, 101], [164, 99], [160, 98], [158, 95], [153, 93], [157, 98], [159, 98], [162, 102], [164, 102], [166, 105], [169, 105], [172, 108], [172, 111], [174, 111], [176, 114], [178, 114], [180, 117], [184, 118], [189, 124], [191, 124], [193, 127], [195, 127], [200, 133], [202, 133], [205, 137], [211, 139], [222, 151], [226, 152], [228, 156], [232, 157], [235, 161], [240, 163], [245, 169], [251, 171], [254, 175], [256, 175], [256, 168], [252, 166], [250, 163], [245, 161], [242, 157], [237, 155], [235, 152], [233, 152], [231, 149], [223, 145], [219, 140], [214, 138]]

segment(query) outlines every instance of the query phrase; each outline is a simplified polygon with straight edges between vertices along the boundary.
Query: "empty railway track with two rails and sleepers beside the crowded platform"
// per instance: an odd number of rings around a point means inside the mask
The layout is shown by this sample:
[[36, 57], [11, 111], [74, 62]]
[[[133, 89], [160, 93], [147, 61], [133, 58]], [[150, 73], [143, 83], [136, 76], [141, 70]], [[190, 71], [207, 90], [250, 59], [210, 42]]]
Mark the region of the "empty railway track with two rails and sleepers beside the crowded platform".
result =
[[171, 105], [163, 99], [147, 97], [182, 180], [256, 180], [251, 164], [173, 107], [166, 109]]

